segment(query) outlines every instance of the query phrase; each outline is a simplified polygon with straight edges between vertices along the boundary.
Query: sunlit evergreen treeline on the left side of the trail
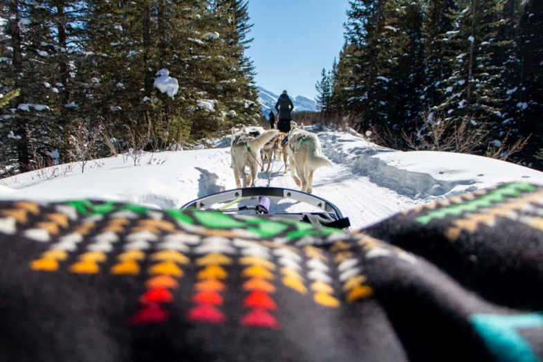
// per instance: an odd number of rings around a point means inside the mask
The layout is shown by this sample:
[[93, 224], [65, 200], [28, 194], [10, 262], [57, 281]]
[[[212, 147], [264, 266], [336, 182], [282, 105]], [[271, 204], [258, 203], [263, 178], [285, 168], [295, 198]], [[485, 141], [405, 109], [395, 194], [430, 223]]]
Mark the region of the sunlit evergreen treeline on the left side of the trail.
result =
[[247, 0], [2, 0], [1, 173], [257, 122], [249, 21]]

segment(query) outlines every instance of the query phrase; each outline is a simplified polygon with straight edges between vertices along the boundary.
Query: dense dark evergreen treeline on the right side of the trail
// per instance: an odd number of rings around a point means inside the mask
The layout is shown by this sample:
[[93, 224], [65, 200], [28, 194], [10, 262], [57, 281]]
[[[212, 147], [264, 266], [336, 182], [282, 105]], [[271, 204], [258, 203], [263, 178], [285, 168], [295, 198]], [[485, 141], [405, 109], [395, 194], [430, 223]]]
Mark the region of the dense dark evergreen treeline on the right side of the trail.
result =
[[543, 169], [543, 1], [351, 0], [347, 15], [321, 111], [403, 150], [457, 137], [504, 159], [528, 140], [510, 161]]

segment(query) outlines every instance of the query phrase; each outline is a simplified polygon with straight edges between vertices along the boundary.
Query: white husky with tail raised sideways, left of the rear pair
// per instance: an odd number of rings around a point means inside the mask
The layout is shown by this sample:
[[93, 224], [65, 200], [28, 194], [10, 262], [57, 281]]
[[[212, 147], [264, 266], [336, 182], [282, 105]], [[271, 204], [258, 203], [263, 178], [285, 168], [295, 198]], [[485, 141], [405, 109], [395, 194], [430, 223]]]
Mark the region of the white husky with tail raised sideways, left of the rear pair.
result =
[[[234, 168], [234, 179], [237, 188], [241, 188], [239, 183], [239, 174], [243, 178], [243, 187], [249, 184], [255, 187], [257, 180], [258, 161], [260, 159], [260, 149], [270, 141], [277, 133], [278, 129], [270, 129], [257, 138], [249, 136], [245, 132], [237, 132], [232, 128], [232, 143], [230, 146], [230, 156], [232, 156], [232, 168]], [[249, 166], [249, 178], [245, 174], [245, 166]]]

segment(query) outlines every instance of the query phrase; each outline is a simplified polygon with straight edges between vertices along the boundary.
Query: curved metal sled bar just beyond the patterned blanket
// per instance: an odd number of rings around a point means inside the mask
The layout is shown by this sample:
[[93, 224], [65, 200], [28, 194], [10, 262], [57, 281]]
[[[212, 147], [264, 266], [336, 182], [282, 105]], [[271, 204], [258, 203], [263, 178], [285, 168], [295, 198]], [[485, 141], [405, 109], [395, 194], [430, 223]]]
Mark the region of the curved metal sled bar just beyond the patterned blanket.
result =
[[239, 199], [241, 197], [258, 196], [280, 197], [282, 199], [293, 199], [296, 201], [309, 203], [309, 205], [320, 208], [324, 212], [333, 212], [338, 219], [343, 218], [340, 209], [333, 203], [322, 199], [322, 197], [288, 188], [237, 188], [235, 190], [217, 192], [217, 194], [211, 194], [209, 196], [190, 201], [189, 203], [185, 203], [185, 205], [181, 206], [180, 210], [185, 210], [185, 208], [196, 208], [197, 210], [201, 210], [206, 206], [211, 206], [215, 203], [223, 201]]

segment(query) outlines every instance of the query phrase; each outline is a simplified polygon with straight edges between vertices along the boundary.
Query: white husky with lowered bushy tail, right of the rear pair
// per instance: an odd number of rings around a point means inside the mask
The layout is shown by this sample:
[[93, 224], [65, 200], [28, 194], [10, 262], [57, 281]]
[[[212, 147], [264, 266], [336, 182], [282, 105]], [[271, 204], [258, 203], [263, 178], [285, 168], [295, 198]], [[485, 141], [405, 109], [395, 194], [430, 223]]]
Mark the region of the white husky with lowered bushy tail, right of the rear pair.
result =
[[[304, 131], [291, 121], [291, 132], [288, 134], [287, 153], [291, 157], [289, 162], [292, 177], [303, 192], [313, 192], [313, 172], [322, 166], [331, 166], [333, 163], [322, 155], [320, 141], [316, 134]], [[296, 176], [297, 175], [297, 176]], [[300, 179], [298, 179], [300, 177]], [[300, 182], [301, 180], [301, 182]]]

